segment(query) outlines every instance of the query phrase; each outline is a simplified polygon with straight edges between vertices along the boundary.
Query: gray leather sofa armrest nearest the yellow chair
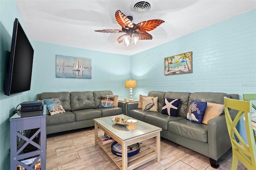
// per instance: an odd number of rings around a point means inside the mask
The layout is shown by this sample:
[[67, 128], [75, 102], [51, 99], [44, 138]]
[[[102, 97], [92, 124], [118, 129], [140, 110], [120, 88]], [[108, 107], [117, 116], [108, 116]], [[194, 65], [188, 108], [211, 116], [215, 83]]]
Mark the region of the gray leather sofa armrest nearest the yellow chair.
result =
[[218, 160], [230, 148], [231, 142], [225, 115], [210, 119], [208, 121], [208, 157]]

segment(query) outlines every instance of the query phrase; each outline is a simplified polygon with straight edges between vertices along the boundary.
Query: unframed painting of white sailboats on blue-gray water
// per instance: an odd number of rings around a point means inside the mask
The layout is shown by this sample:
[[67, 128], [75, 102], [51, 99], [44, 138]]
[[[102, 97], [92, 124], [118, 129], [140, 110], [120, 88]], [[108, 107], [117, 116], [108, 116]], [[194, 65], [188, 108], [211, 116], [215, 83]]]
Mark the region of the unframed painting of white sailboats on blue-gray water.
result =
[[56, 55], [56, 77], [92, 79], [92, 59]]

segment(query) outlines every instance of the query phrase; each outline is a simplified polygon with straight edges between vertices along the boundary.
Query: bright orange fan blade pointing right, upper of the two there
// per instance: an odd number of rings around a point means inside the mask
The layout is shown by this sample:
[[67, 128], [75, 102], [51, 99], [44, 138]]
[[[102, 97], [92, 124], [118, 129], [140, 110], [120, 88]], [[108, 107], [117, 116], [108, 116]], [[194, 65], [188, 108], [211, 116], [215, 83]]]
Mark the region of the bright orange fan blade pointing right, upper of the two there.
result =
[[137, 32], [146, 32], [146, 31], [151, 31], [154, 30], [157, 26], [160, 24], [164, 23], [163, 20], [148, 20], [148, 21], [143, 21], [134, 26], [133, 30]]

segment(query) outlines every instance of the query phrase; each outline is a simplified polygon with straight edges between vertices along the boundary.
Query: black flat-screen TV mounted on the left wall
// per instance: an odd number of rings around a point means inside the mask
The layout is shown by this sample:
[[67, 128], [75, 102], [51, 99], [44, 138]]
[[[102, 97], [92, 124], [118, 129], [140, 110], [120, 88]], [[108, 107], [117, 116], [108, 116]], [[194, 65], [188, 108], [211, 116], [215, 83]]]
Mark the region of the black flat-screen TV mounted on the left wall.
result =
[[14, 21], [12, 45], [4, 86], [5, 95], [30, 90], [34, 49], [18, 19]]

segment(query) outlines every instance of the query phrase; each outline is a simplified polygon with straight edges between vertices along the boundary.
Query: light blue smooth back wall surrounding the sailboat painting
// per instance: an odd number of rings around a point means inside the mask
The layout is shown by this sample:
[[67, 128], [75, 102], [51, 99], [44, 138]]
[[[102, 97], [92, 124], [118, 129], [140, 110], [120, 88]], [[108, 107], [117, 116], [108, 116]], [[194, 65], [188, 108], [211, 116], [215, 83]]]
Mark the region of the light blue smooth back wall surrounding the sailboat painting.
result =
[[[103, 53], [32, 41], [34, 62], [31, 98], [42, 92], [111, 90], [120, 99], [127, 97], [125, 81], [130, 79], [130, 56]], [[92, 79], [56, 78], [56, 55], [92, 59]]]

